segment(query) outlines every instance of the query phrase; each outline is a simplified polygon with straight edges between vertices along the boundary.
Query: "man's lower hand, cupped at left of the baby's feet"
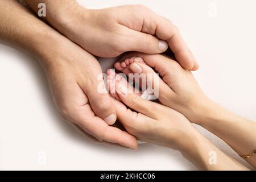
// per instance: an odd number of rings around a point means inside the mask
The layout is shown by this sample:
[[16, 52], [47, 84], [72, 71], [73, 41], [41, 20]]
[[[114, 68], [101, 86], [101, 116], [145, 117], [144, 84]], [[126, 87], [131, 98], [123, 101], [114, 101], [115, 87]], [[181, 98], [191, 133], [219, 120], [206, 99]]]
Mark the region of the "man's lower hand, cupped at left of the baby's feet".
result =
[[137, 148], [133, 136], [109, 126], [115, 122], [116, 113], [109, 94], [99, 90], [105, 87], [98, 61], [66, 38], [60, 44], [53, 44], [54, 50], [41, 63], [61, 115], [98, 140]]

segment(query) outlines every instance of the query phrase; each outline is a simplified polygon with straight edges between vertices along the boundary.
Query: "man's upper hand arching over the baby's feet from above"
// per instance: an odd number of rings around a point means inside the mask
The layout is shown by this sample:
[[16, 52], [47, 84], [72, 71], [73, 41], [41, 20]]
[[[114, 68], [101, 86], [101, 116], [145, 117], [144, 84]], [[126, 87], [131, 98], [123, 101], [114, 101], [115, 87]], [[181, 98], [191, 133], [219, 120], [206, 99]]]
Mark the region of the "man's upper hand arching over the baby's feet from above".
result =
[[[26, 2], [34, 11], [38, 11], [40, 0]], [[115, 57], [127, 51], [162, 53], [169, 45], [183, 68], [198, 69], [196, 59], [181, 38], [178, 28], [145, 6], [89, 10], [74, 0], [44, 2], [46, 20], [93, 55]]]

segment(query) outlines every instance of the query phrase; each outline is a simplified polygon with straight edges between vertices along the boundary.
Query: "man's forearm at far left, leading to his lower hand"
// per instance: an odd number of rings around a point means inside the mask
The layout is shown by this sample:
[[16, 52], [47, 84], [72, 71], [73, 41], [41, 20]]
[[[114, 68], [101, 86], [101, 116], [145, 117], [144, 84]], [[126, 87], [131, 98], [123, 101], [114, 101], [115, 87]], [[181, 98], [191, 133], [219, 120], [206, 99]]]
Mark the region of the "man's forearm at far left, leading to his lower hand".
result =
[[46, 35], [44, 26], [14, 0], [0, 1], [0, 9], [1, 42], [30, 53], [39, 52], [42, 35]]

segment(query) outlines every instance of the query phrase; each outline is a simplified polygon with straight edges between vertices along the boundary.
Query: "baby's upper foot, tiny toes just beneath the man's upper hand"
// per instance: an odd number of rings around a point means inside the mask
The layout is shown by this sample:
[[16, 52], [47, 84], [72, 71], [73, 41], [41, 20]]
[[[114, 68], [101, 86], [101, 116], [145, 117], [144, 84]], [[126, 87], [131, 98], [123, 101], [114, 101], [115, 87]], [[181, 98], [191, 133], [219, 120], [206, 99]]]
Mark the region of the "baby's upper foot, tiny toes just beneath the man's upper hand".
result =
[[[131, 58], [127, 58], [126, 60], [124, 60], [122, 62], [115, 63], [114, 68], [117, 69], [118, 71], [125, 73], [125, 75], [128, 76], [129, 73], [134, 73], [130, 67], [133, 67], [133, 69], [136, 69], [136, 67], [134, 67], [133, 63], [146, 64], [141, 57], [131, 57]], [[140, 68], [137, 67], [137, 69], [140, 69]], [[137, 73], [138, 72], [139, 72], [139, 70], [137, 71]]]

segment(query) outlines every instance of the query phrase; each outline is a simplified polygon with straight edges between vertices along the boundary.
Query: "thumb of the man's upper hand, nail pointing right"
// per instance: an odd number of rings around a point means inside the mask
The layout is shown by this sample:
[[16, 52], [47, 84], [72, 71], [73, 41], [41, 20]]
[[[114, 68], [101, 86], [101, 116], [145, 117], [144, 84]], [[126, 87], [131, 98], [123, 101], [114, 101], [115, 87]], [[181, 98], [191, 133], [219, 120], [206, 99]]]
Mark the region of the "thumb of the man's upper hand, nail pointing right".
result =
[[130, 30], [130, 36], [128, 36], [127, 39], [126, 44], [129, 45], [130, 51], [155, 54], [163, 53], [168, 48], [166, 41], [160, 40], [151, 34], [135, 30]]

